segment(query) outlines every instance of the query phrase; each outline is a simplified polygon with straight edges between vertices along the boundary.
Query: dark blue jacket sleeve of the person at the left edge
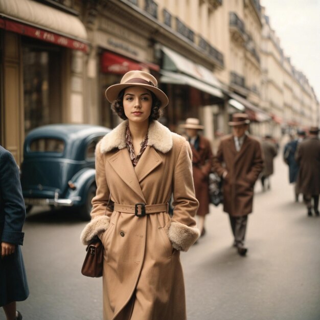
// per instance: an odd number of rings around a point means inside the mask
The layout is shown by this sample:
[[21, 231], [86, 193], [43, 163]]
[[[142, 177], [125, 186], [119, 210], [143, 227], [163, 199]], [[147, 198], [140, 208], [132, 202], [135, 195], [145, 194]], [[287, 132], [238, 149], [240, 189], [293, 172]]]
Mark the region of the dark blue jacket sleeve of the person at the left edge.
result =
[[0, 153], [0, 195], [4, 214], [4, 227], [1, 242], [22, 245], [21, 232], [26, 219], [25, 201], [22, 197], [18, 166], [12, 154], [5, 150]]

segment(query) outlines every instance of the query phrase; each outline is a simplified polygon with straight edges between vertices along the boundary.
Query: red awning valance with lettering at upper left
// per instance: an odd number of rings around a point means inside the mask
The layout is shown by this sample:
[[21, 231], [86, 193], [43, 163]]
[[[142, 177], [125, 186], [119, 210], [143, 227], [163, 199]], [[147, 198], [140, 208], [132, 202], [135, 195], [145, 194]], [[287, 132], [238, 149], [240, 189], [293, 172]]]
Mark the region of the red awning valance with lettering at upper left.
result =
[[62, 47], [80, 50], [83, 52], [88, 51], [88, 45], [84, 42], [63, 35], [59, 35], [54, 32], [46, 31], [41, 28], [36, 28], [26, 24], [22, 24], [20, 22], [13, 21], [4, 17], [0, 18], [0, 28], [11, 32], [19, 33], [28, 37], [36, 38], [42, 41], [47, 41], [57, 45], [61, 45]]

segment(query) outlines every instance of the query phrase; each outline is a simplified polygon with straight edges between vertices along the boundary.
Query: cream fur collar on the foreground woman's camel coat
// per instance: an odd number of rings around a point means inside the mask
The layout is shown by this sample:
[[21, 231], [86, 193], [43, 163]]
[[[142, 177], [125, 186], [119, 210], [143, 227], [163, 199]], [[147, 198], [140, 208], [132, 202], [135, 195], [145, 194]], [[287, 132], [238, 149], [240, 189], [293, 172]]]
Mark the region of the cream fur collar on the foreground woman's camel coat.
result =
[[[101, 153], [107, 153], [115, 148], [126, 148], [127, 125], [128, 121], [123, 121], [102, 138]], [[152, 121], [148, 130], [148, 146], [152, 146], [162, 153], [167, 153], [171, 150], [172, 145], [172, 132], [158, 121]]]

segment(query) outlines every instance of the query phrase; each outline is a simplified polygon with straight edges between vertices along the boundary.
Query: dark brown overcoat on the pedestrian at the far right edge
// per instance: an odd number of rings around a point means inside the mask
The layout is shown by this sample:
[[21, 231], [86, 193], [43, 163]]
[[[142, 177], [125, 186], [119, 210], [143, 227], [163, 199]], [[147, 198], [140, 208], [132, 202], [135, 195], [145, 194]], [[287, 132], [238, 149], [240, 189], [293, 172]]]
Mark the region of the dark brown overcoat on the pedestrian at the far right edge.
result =
[[308, 196], [320, 194], [320, 140], [308, 138], [302, 141], [295, 161], [300, 165], [296, 191]]

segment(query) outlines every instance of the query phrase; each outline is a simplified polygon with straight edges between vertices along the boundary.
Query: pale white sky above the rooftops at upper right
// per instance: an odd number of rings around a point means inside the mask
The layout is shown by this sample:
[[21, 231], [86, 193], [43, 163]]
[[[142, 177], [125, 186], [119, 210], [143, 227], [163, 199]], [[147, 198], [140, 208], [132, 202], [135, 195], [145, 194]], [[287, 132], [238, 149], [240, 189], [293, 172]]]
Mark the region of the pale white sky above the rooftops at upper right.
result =
[[280, 47], [320, 101], [320, 0], [261, 0]]

